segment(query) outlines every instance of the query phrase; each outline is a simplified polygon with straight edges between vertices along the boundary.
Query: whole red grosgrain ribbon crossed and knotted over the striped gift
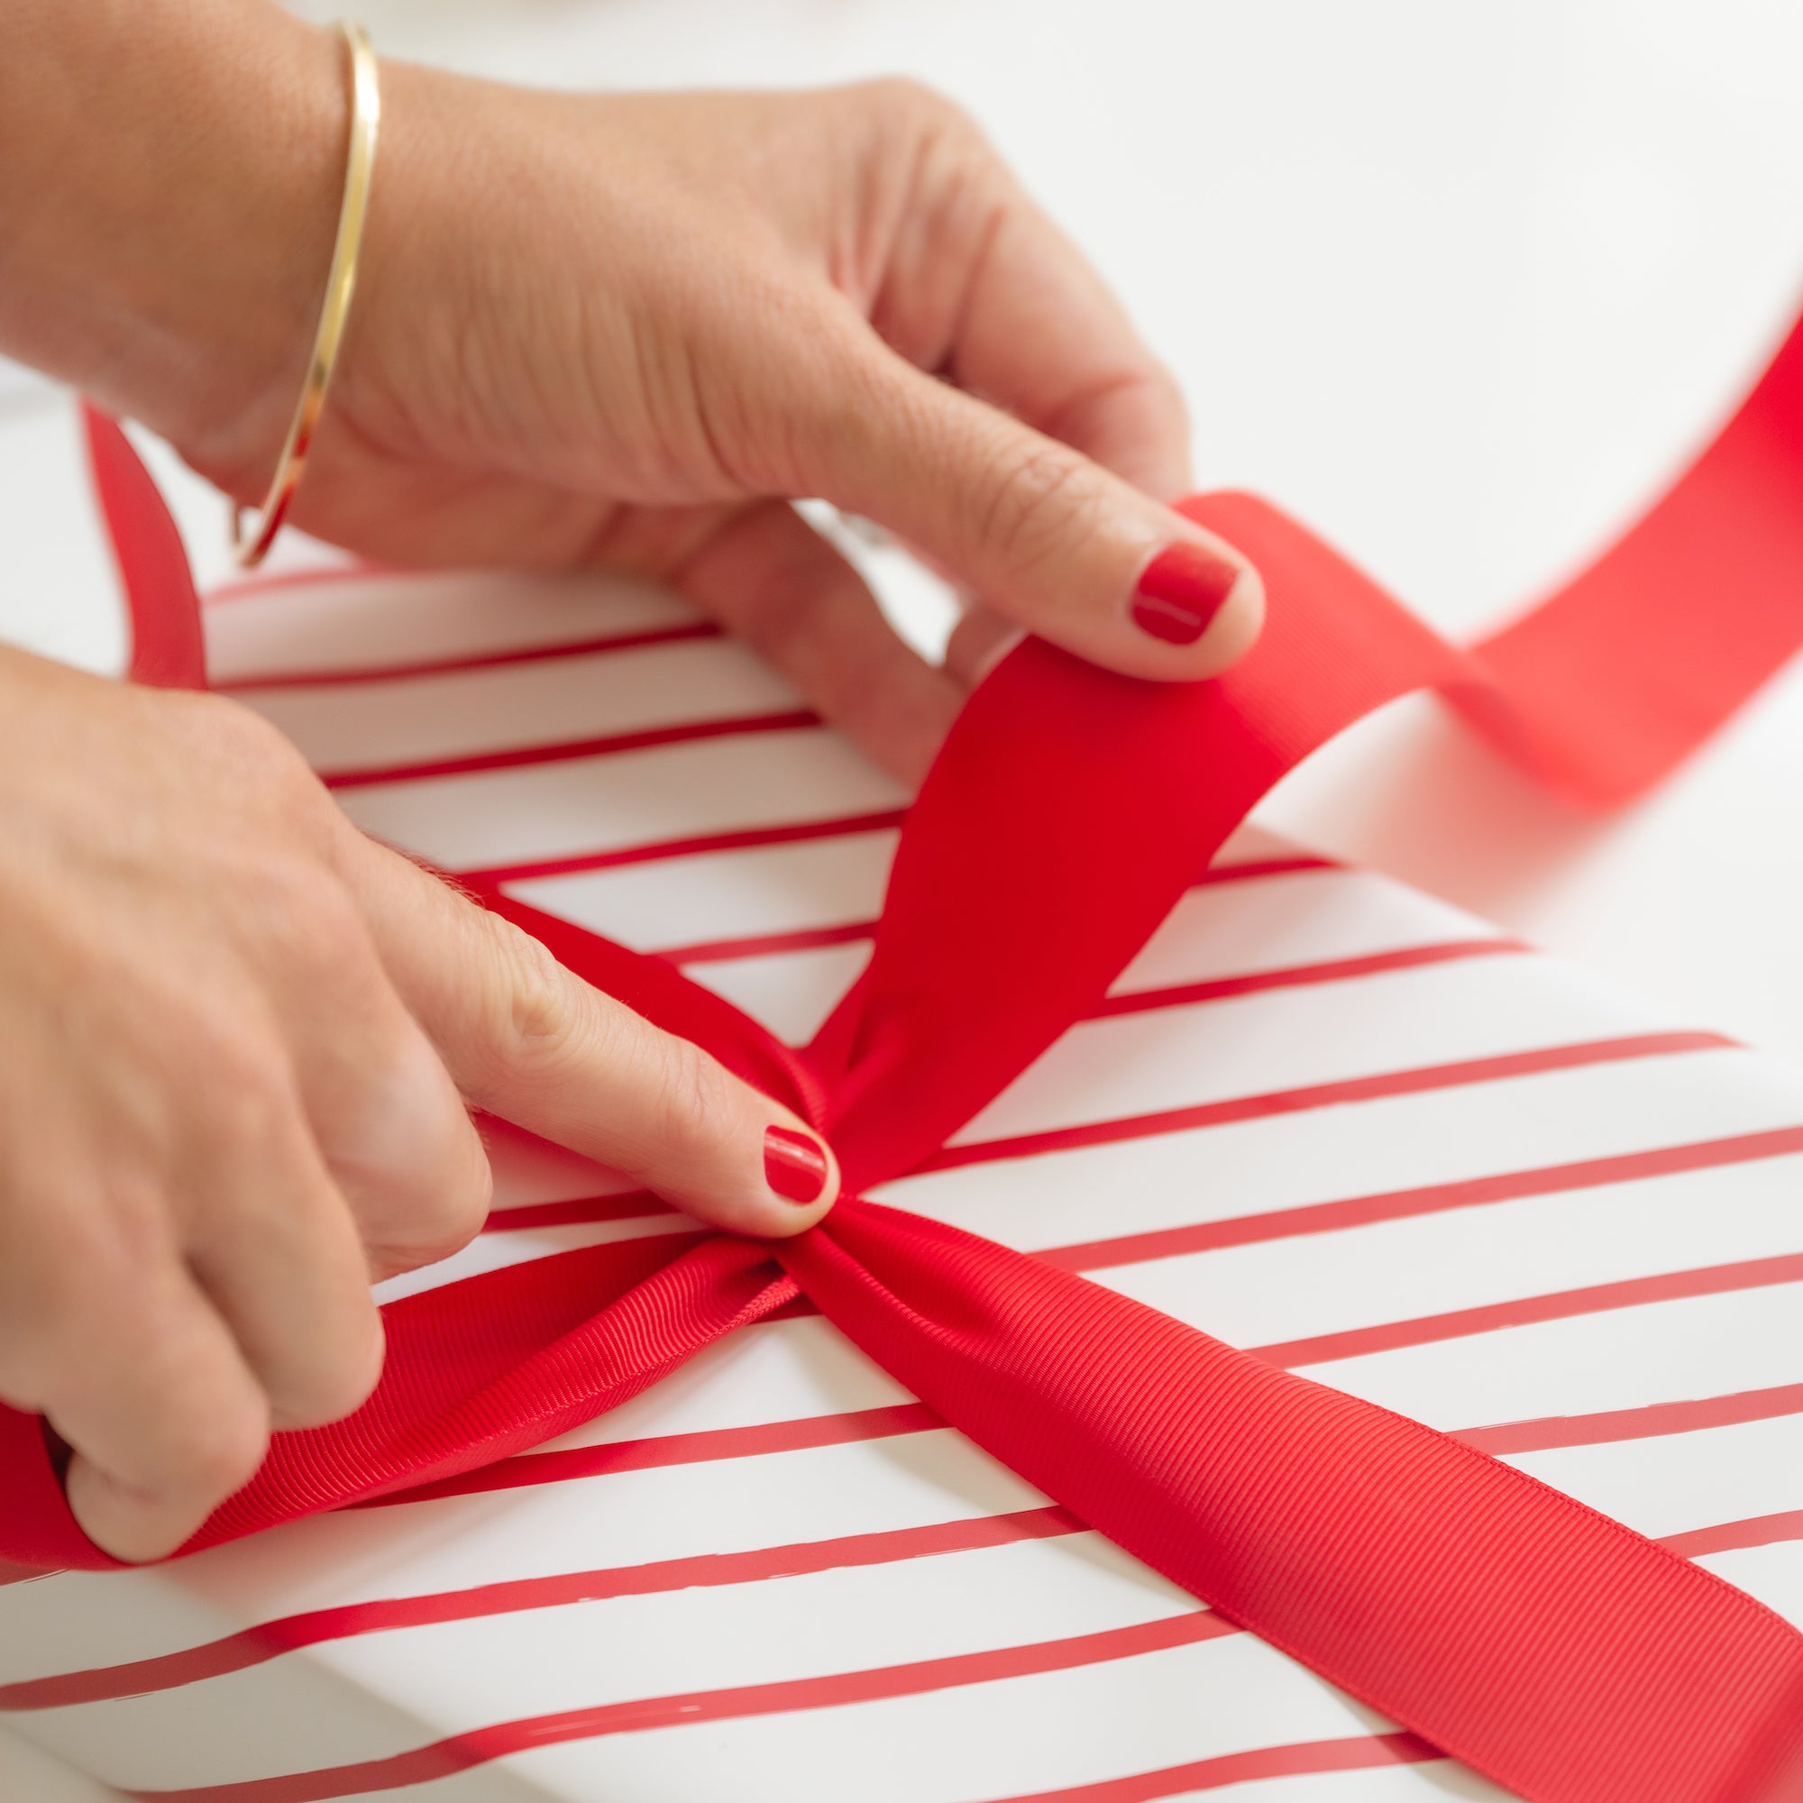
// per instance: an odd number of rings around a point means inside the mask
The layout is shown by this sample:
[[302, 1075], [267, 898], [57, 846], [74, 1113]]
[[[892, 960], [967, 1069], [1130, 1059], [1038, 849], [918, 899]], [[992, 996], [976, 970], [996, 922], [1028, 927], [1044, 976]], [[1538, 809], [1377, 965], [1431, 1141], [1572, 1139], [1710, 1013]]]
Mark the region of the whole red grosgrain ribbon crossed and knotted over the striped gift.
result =
[[[135, 674], [200, 683], [155, 490], [115, 427], [90, 433]], [[1419, 1423], [851, 1199], [918, 1168], [1100, 1002], [1253, 802], [1383, 701], [1439, 687], [1594, 806], [1725, 719], [1803, 642], [1803, 330], [1621, 543], [1471, 653], [1262, 501], [1186, 512], [1262, 570], [1258, 647], [1195, 687], [1013, 653], [934, 764], [871, 965], [806, 1051], [664, 961], [485, 898], [829, 1132], [847, 1199], [781, 1244], [627, 1240], [391, 1304], [370, 1403], [278, 1435], [188, 1551], [519, 1451], [804, 1293], [1046, 1495], [1524, 1798], [1803, 1798], [1803, 1635], [1751, 1597]], [[0, 1414], [0, 1560], [108, 1565], [45, 1444], [34, 1417]]]

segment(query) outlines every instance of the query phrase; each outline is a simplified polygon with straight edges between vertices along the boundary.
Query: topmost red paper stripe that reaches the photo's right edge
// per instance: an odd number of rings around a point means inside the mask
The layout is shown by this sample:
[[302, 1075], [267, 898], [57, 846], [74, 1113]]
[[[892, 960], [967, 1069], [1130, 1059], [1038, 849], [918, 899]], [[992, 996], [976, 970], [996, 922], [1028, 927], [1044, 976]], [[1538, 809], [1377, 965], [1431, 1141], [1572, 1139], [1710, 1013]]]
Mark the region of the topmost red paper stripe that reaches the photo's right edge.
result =
[[1235, 1215], [1231, 1221], [1201, 1221], [1194, 1226], [1123, 1233], [1116, 1239], [1084, 1240], [1076, 1246], [1053, 1246], [1035, 1253], [1035, 1257], [1064, 1271], [1107, 1271], [1123, 1264], [1149, 1264], [1158, 1258], [1219, 1251], [1224, 1246], [1253, 1246], [1309, 1233], [1334, 1233], [1379, 1221], [1406, 1221], [1414, 1215], [1478, 1208], [1486, 1203], [1509, 1203], [1527, 1195], [1594, 1190], [1610, 1183], [1634, 1183], [1641, 1177], [1666, 1177], [1688, 1170], [1716, 1170], [1724, 1165], [1749, 1165], [1796, 1152], [1803, 1152], [1803, 1127], [1778, 1127], [1771, 1132], [1736, 1134], [1729, 1139], [1698, 1139], [1691, 1145], [1653, 1147], [1646, 1152], [1621, 1152], [1614, 1158], [1587, 1158], [1570, 1165], [1543, 1165], [1538, 1170], [1511, 1170], [1493, 1177], [1464, 1177], [1414, 1190], [1354, 1195], [1338, 1203], [1304, 1203], [1296, 1208], [1275, 1208], [1258, 1215]]

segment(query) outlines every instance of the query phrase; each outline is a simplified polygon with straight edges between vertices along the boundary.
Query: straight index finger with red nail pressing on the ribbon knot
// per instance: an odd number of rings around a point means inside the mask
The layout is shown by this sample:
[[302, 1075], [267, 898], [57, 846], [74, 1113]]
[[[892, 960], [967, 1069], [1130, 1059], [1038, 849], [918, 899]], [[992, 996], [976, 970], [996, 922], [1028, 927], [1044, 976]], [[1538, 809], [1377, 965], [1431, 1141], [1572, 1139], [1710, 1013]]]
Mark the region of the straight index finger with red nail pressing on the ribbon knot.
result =
[[838, 1165], [788, 1109], [346, 826], [341, 858], [402, 1001], [478, 1107], [736, 1233], [811, 1226]]

